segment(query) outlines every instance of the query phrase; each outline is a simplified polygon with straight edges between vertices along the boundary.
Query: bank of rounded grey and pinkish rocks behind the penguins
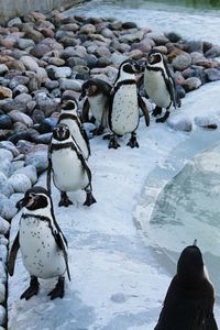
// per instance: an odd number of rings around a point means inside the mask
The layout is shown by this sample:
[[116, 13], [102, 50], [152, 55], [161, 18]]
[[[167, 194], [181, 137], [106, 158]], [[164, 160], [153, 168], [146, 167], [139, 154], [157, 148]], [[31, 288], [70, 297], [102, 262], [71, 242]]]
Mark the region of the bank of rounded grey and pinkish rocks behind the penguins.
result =
[[[220, 46], [157, 34], [132, 22], [66, 18], [54, 11], [33, 12], [0, 26], [0, 326], [7, 323], [10, 220], [16, 200], [47, 167], [62, 95], [77, 98], [89, 77], [112, 84], [123, 59], [144, 59], [152, 48], [167, 57], [182, 97], [220, 79]], [[183, 130], [172, 119], [168, 123]], [[206, 125], [202, 119], [197, 123]], [[190, 129], [190, 123], [184, 125]]]

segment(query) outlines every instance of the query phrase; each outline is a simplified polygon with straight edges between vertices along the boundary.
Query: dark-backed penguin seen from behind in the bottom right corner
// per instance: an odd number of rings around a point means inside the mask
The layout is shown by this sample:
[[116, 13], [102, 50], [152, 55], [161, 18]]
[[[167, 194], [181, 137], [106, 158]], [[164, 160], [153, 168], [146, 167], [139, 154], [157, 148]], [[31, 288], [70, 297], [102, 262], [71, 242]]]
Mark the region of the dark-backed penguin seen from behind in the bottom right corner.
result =
[[180, 254], [154, 330], [218, 330], [213, 304], [213, 286], [195, 243]]

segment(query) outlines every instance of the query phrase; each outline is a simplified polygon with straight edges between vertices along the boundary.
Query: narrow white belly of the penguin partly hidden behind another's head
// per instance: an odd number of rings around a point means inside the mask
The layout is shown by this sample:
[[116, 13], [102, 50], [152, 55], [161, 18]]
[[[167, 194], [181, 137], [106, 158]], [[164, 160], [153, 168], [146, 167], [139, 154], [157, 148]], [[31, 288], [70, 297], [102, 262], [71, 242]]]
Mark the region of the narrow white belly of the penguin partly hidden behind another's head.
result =
[[88, 157], [89, 157], [88, 146], [87, 146], [87, 143], [86, 143], [84, 136], [81, 135], [81, 132], [80, 132], [77, 123], [72, 119], [63, 119], [63, 120], [61, 120], [61, 123], [64, 123], [69, 128], [72, 136], [74, 136], [74, 139], [75, 139], [76, 143], [78, 144], [78, 146], [80, 147], [82, 154], [88, 160]]

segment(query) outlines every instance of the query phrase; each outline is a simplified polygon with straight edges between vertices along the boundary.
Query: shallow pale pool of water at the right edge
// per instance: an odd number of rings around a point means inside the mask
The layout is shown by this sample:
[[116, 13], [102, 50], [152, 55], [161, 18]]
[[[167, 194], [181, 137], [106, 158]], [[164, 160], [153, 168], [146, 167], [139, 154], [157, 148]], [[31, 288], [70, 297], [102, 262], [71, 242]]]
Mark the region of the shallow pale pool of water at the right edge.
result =
[[177, 251], [198, 239], [220, 295], [220, 143], [198, 154], [161, 193], [150, 222], [150, 237], [175, 260]]

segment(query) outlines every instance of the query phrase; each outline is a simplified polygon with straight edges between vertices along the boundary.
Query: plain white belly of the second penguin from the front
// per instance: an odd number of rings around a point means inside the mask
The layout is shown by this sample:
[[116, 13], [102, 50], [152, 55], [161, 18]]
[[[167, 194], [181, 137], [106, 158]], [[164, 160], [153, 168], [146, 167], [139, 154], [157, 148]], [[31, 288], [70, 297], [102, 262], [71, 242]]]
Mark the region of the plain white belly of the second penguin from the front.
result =
[[54, 185], [62, 191], [75, 191], [88, 186], [89, 179], [75, 151], [53, 151], [52, 167]]

